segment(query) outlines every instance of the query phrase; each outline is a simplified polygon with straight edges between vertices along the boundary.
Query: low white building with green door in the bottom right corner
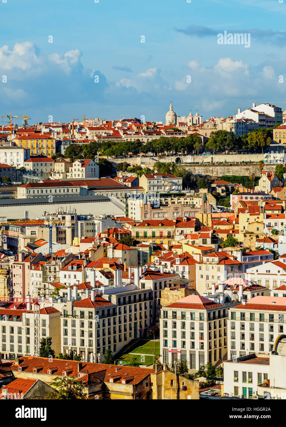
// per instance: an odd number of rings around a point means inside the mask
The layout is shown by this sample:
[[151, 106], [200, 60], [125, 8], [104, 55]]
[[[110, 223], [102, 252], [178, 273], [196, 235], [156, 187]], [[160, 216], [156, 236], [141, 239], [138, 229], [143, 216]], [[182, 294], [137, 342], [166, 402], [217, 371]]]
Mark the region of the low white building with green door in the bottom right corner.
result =
[[269, 357], [252, 353], [223, 363], [224, 393], [230, 397], [256, 399], [257, 386], [268, 380]]

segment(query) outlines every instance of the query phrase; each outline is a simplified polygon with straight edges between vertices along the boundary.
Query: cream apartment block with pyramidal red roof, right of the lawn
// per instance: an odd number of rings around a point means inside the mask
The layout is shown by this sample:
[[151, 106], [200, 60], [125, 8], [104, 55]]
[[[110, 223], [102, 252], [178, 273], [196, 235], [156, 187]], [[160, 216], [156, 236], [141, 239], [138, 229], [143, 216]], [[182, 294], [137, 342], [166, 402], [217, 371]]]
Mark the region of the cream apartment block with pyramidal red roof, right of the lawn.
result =
[[228, 309], [199, 295], [188, 295], [161, 309], [161, 362], [187, 360], [190, 369], [216, 365], [227, 352]]

